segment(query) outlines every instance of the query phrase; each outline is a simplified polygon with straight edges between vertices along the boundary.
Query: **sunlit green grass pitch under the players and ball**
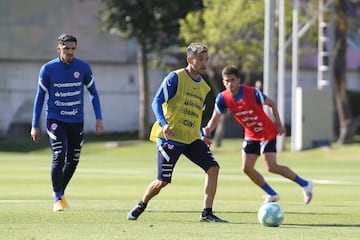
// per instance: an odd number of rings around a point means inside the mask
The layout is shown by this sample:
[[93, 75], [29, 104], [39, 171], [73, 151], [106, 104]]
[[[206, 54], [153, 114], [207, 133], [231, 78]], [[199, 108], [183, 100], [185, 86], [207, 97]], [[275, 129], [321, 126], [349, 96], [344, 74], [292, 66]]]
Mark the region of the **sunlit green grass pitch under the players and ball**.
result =
[[[100, 138], [101, 139], [101, 138]], [[20, 150], [21, 149], [21, 150]], [[257, 169], [281, 194], [284, 223], [257, 222], [264, 193], [241, 172], [241, 140], [224, 140], [213, 153], [221, 165], [214, 211], [229, 223], [200, 223], [204, 173], [187, 159], [176, 166], [173, 183], [137, 221], [127, 212], [156, 176], [150, 142], [88, 141], [66, 192], [72, 211], [52, 212], [50, 150], [0, 141], [0, 239], [358, 239], [360, 236], [360, 144], [303, 152], [282, 152], [278, 162], [314, 182], [314, 198], [303, 203], [301, 188]]]

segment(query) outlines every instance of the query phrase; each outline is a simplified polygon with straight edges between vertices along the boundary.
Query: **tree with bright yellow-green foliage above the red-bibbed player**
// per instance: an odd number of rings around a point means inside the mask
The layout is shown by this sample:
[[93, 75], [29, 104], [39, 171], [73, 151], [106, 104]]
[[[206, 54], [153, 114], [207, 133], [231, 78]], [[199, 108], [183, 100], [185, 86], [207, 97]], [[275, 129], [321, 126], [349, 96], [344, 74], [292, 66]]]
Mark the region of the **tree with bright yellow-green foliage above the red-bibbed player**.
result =
[[[214, 95], [223, 86], [220, 81], [221, 70], [226, 65], [235, 65], [246, 75], [246, 84], [254, 73], [263, 71], [264, 58], [264, 19], [265, 4], [263, 0], [204, 0], [204, 9], [189, 13], [181, 20], [180, 35], [186, 43], [198, 39], [209, 47], [210, 63], [209, 82]], [[291, 8], [290, 5], [287, 7]], [[291, 26], [291, 9], [286, 11], [287, 25]], [[288, 35], [290, 35], [288, 29]], [[215, 146], [220, 146], [224, 125], [231, 118], [225, 114], [218, 125]]]

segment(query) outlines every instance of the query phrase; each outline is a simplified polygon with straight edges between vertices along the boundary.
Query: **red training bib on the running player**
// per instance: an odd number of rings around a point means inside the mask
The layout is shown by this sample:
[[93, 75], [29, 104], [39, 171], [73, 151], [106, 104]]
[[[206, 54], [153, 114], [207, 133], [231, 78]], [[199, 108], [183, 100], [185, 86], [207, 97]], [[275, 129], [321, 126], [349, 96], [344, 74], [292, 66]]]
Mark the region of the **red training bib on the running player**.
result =
[[273, 140], [278, 135], [277, 126], [256, 101], [254, 88], [243, 87], [243, 97], [236, 101], [229, 91], [221, 94], [232, 115], [245, 130], [245, 137], [251, 140]]

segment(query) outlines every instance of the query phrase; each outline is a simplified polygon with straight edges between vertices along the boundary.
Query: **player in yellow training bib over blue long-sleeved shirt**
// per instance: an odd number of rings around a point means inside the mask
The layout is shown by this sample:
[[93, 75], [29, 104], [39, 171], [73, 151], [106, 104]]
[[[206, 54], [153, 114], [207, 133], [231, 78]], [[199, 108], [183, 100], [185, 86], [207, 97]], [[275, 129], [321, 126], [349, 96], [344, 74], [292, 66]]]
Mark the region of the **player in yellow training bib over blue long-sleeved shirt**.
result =
[[158, 176], [128, 213], [129, 220], [136, 220], [148, 202], [171, 183], [176, 162], [183, 154], [206, 173], [200, 221], [225, 222], [212, 212], [219, 164], [212, 156], [209, 142], [200, 135], [204, 101], [210, 91], [201, 77], [209, 59], [207, 47], [201, 43], [190, 44], [186, 59], [188, 66], [169, 73], [154, 97], [152, 109], [156, 122], [150, 139], [157, 143]]

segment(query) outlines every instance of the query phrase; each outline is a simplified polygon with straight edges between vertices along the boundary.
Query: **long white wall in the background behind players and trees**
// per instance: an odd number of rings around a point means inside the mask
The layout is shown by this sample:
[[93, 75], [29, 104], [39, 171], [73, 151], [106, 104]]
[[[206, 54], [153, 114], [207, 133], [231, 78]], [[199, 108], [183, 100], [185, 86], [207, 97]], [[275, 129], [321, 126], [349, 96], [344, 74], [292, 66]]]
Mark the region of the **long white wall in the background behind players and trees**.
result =
[[[17, 134], [27, 135], [30, 131], [33, 101], [37, 87], [38, 72], [43, 62], [0, 62], [0, 137], [13, 133], [14, 124], [26, 129]], [[137, 66], [116, 63], [91, 63], [96, 86], [101, 97], [106, 132], [127, 132], [138, 129], [139, 81]], [[166, 73], [159, 69], [149, 70], [150, 102]], [[348, 72], [348, 88], [360, 91], [359, 72]], [[316, 71], [301, 70], [299, 85], [302, 88], [316, 88]], [[149, 106], [151, 122], [154, 121]], [[151, 124], [151, 122], [149, 124]], [[291, 74], [286, 78], [285, 119], [291, 123]], [[13, 124], [13, 125], [12, 125]], [[95, 117], [88, 97], [85, 97], [85, 131], [95, 131]], [[45, 129], [45, 107], [41, 127]], [[25, 132], [25, 133], [23, 133]], [[10, 136], [11, 137], [11, 136]]]

